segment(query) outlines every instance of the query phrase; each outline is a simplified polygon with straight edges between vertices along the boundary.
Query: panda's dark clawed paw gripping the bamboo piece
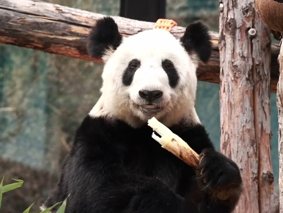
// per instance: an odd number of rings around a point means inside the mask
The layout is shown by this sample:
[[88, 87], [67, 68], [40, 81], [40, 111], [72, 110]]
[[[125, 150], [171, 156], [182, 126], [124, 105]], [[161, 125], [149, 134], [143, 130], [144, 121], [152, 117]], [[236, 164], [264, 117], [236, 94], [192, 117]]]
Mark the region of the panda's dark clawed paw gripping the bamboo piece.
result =
[[238, 198], [242, 191], [240, 170], [231, 159], [211, 149], [200, 154], [197, 181], [201, 190], [219, 200]]

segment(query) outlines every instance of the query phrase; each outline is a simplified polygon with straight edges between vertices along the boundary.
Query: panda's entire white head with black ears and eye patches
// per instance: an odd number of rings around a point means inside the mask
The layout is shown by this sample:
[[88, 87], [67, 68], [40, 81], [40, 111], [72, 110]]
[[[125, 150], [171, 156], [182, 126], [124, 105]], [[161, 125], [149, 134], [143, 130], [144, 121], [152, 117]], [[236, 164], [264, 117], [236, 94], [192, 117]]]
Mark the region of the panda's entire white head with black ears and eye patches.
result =
[[199, 123], [196, 70], [211, 53], [202, 22], [188, 25], [180, 39], [161, 29], [125, 38], [115, 21], [104, 17], [92, 28], [87, 48], [91, 57], [104, 61], [102, 95], [91, 116], [118, 118], [133, 127], [153, 116], [167, 126], [184, 118]]

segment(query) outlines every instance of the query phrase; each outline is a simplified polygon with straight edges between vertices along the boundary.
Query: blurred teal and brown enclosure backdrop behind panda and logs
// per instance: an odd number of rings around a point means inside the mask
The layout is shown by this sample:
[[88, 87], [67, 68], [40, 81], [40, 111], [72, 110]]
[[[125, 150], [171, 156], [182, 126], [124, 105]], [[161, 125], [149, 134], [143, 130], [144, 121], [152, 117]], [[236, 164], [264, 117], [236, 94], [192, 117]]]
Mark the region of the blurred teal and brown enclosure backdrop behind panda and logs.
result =
[[[46, 0], [73, 8], [119, 15], [118, 0]], [[218, 1], [167, 0], [166, 18], [186, 26], [201, 19], [218, 31]], [[272, 42], [275, 42], [273, 39]], [[24, 180], [3, 196], [5, 213], [33, 212], [60, 175], [74, 133], [99, 98], [102, 64], [0, 45], [0, 174]], [[219, 84], [198, 82], [197, 113], [219, 150]], [[271, 94], [272, 166], [278, 191], [278, 120]], [[237, 141], [235, 141], [237, 142]]]

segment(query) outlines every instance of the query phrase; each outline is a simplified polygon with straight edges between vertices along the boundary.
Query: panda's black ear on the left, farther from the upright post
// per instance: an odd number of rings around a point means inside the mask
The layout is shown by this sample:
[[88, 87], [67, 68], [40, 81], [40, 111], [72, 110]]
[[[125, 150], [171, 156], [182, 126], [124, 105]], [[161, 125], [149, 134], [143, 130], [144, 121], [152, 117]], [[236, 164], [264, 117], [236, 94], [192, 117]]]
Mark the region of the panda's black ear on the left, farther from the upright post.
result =
[[87, 41], [87, 51], [91, 57], [102, 58], [113, 52], [122, 43], [122, 35], [111, 17], [99, 19], [91, 29]]

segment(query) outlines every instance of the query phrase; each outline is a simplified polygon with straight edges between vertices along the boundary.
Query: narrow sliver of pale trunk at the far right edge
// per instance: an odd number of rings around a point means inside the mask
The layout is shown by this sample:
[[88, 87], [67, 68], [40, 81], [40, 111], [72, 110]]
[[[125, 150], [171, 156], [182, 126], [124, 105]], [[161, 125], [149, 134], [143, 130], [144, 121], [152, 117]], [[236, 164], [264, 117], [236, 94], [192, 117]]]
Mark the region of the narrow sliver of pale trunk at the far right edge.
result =
[[280, 64], [280, 76], [277, 85], [277, 108], [278, 108], [278, 151], [279, 151], [279, 197], [280, 213], [283, 213], [283, 40], [281, 40], [281, 49], [278, 57]]

